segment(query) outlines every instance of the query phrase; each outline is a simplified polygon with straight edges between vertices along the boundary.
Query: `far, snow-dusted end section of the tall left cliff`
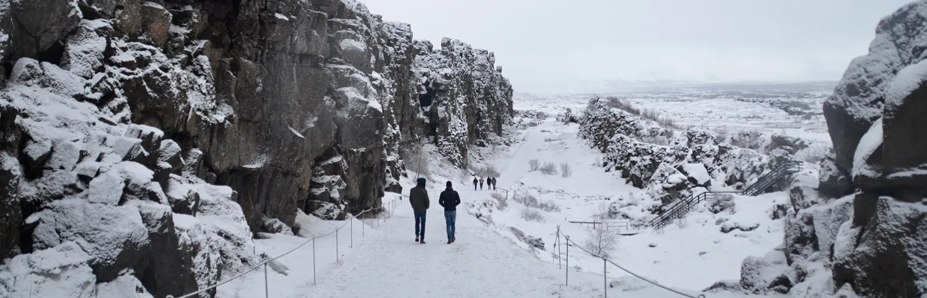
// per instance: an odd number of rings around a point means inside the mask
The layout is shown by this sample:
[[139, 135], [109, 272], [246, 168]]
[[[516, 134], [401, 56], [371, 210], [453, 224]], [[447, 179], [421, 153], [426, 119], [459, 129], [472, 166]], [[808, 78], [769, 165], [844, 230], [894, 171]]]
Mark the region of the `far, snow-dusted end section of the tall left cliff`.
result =
[[495, 68], [492, 52], [470, 44], [444, 38], [440, 49], [423, 41], [415, 50], [426, 135], [434, 137], [441, 155], [465, 168], [469, 144], [502, 135], [512, 122], [512, 84], [502, 77], [502, 68]]

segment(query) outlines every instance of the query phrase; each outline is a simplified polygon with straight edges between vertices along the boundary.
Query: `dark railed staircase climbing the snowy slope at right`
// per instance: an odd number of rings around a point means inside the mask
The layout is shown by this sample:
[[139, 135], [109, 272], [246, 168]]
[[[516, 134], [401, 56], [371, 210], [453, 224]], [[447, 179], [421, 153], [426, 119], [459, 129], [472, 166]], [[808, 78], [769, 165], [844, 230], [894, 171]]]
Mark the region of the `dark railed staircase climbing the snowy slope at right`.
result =
[[682, 199], [679, 203], [671, 205], [667, 208], [666, 211], [658, 215], [656, 218], [650, 221], [650, 226], [654, 229], [663, 229], [673, 219], [685, 217], [689, 214], [689, 211], [692, 211], [692, 208], [695, 208], [699, 203], [705, 202], [705, 200], [713, 199], [718, 195], [722, 194], [742, 194], [742, 195], [756, 195], [761, 193], [766, 193], [770, 191], [770, 188], [777, 181], [785, 179], [792, 176], [792, 174], [797, 173], [802, 170], [802, 162], [797, 160], [789, 160], [782, 162], [776, 168], [770, 170], [766, 175], [760, 177], [756, 182], [747, 186], [741, 192], [701, 192], [698, 194], [690, 195], [689, 197]]

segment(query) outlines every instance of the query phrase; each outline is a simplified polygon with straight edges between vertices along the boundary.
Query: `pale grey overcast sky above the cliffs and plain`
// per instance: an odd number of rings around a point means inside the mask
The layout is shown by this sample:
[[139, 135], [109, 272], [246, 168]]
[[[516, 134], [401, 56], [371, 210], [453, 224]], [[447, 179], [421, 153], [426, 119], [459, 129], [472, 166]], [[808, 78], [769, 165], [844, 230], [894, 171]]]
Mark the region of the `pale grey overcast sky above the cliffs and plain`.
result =
[[361, 0], [495, 52], [516, 92], [610, 80], [837, 81], [907, 0]]

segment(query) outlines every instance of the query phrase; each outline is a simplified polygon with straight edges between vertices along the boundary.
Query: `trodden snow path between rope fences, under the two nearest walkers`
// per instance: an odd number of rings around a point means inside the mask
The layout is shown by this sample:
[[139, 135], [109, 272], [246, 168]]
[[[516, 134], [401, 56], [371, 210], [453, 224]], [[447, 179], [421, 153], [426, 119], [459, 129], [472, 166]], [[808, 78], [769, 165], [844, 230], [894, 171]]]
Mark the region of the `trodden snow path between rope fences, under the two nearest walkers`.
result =
[[427, 243], [413, 242], [412, 211], [402, 205], [380, 238], [364, 243], [305, 297], [558, 297], [556, 266], [489, 230], [463, 205], [457, 242], [447, 244], [437, 203], [432, 199], [426, 217]]

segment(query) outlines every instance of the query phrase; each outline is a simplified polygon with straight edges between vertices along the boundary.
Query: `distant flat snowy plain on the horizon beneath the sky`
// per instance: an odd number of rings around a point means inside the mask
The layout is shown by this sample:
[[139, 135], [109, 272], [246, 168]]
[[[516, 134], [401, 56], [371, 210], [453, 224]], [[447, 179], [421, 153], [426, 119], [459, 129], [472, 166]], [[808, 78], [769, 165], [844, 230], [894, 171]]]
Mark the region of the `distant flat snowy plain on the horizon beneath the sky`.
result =
[[[776, 132], [820, 143], [831, 143], [827, 123], [820, 115], [832, 93], [818, 85], [797, 90], [697, 90], [674, 93], [614, 93], [536, 96], [516, 93], [514, 108], [540, 110], [553, 115], [565, 107], [581, 111], [592, 96], [618, 96], [639, 107], [654, 109], [682, 127], [703, 126], [717, 132], [742, 130]], [[772, 87], [770, 87], [772, 88]], [[797, 88], [797, 87], [796, 87]], [[790, 115], [793, 112], [808, 116]]]

